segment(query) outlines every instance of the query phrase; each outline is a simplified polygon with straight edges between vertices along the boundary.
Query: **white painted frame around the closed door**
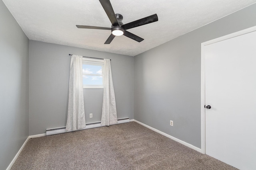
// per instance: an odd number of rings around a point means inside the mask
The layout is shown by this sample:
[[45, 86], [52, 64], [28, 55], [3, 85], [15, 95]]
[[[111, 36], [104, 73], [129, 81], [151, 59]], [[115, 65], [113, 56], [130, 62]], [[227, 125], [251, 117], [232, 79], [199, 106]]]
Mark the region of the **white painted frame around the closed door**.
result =
[[206, 153], [206, 145], [205, 145], [205, 140], [206, 140], [205, 123], [206, 122], [205, 122], [205, 108], [204, 108], [204, 105], [205, 105], [205, 46], [213, 43], [217, 43], [219, 41], [224, 41], [226, 39], [234, 38], [246, 33], [254, 32], [254, 31], [256, 31], [256, 26], [243, 29], [241, 31], [237, 31], [235, 33], [224, 35], [222, 37], [218, 37], [216, 39], [212, 39], [210, 41], [201, 43], [201, 152], [203, 154]]

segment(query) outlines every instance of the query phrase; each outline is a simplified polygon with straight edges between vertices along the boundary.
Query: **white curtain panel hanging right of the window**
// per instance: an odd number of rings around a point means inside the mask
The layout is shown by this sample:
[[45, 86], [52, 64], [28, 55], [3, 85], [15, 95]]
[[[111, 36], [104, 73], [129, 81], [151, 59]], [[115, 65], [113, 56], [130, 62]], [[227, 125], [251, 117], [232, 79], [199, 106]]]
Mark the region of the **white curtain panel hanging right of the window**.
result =
[[101, 125], [109, 126], [117, 123], [116, 99], [112, 80], [110, 59], [104, 59], [104, 89]]

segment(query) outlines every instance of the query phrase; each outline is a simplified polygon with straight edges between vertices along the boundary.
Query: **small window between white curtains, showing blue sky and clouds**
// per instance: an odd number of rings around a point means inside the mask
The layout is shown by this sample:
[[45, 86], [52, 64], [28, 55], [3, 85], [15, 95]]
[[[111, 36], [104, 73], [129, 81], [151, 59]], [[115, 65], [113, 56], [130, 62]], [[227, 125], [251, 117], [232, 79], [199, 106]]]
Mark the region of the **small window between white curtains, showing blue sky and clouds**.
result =
[[83, 87], [103, 88], [104, 60], [83, 58]]

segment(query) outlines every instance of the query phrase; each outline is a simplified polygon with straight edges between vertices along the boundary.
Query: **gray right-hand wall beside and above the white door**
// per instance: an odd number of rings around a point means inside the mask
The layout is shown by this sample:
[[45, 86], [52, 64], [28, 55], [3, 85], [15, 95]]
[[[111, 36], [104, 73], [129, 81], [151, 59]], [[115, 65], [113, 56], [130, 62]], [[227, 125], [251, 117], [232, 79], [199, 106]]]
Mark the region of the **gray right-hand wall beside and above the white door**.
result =
[[255, 26], [255, 16], [253, 4], [135, 56], [134, 119], [201, 148], [201, 43]]

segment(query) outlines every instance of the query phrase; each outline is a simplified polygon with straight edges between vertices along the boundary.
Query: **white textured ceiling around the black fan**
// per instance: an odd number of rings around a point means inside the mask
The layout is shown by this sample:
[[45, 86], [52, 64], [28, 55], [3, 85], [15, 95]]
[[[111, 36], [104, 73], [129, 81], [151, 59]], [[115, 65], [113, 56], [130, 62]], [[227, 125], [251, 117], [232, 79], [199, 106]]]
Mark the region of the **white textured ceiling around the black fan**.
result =
[[256, 0], [110, 0], [114, 12], [124, 17], [124, 24], [152, 14], [158, 15], [158, 21], [128, 30], [144, 38], [140, 43], [123, 35], [115, 37], [109, 45], [104, 42], [110, 30], [76, 27], [111, 27], [98, 0], [3, 2], [30, 40], [135, 56], [254, 4]]

